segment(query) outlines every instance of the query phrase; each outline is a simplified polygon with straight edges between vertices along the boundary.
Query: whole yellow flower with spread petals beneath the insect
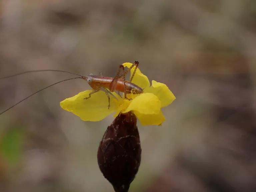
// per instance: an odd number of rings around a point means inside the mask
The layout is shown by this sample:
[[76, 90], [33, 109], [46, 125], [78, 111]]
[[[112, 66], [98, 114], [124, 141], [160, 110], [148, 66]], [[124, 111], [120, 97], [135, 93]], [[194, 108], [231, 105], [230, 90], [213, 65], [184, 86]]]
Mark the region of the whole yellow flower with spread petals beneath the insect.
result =
[[[128, 68], [131, 65], [132, 63], [123, 64]], [[133, 71], [134, 68], [131, 70], [131, 74]], [[113, 93], [116, 98], [110, 95], [109, 109], [108, 98], [104, 91], [92, 94], [91, 98], [87, 100], [84, 99], [92, 90], [86, 90], [67, 98], [60, 102], [60, 106], [84, 121], [100, 121], [114, 112], [114, 117], [116, 117], [119, 113], [132, 111], [142, 125], [160, 125], [165, 121], [161, 108], [170, 105], [175, 100], [175, 96], [163, 83], [153, 80], [150, 86], [147, 76], [142, 74], [138, 68], [132, 82], [141, 87], [144, 93], [127, 94], [131, 100], [120, 98], [118, 94]]]

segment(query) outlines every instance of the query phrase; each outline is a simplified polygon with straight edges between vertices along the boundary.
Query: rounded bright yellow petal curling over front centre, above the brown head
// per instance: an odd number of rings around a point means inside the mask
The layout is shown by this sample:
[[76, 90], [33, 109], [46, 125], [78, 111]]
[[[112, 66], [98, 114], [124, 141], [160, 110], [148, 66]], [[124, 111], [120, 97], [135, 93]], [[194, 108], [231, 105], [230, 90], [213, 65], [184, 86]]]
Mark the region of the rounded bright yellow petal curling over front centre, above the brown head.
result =
[[141, 114], [158, 114], [161, 108], [161, 101], [152, 93], [142, 93], [135, 97], [130, 105], [122, 111], [127, 113], [129, 111], [137, 111]]

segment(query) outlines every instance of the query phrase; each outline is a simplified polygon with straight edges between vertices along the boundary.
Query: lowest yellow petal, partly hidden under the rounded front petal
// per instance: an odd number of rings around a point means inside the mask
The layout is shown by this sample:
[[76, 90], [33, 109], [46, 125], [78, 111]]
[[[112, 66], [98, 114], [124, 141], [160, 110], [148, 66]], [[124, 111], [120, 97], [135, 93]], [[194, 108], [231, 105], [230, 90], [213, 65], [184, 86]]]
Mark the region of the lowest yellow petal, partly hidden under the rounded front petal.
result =
[[161, 125], [165, 121], [162, 111], [158, 114], [141, 114], [134, 111], [134, 114], [139, 119], [141, 125]]

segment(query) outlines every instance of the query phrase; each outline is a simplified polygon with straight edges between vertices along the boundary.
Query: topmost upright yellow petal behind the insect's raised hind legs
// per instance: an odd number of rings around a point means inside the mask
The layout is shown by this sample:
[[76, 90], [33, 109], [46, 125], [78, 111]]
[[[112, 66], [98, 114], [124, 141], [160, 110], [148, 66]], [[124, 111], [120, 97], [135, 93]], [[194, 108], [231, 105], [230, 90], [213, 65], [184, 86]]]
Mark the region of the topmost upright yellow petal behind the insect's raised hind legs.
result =
[[[124, 63], [123, 66], [129, 68], [129, 67], [132, 66], [132, 63]], [[131, 76], [132, 76], [132, 74], [134, 72], [134, 69], [135, 69], [135, 67], [133, 67], [131, 69]], [[130, 78], [129, 79], [127, 78], [126, 80], [129, 81]], [[147, 88], [147, 87], [150, 86], [150, 82], [148, 80], [148, 77], [146, 75], [144, 75], [143, 73], [141, 73], [139, 68], [136, 69], [136, 72], [135, 72], [135, 75], [134, 75], [134, 77], [132, 79], [132, 82], [134, 84], [138, 85], [139, 87], [141, 87], [142, 89]]]

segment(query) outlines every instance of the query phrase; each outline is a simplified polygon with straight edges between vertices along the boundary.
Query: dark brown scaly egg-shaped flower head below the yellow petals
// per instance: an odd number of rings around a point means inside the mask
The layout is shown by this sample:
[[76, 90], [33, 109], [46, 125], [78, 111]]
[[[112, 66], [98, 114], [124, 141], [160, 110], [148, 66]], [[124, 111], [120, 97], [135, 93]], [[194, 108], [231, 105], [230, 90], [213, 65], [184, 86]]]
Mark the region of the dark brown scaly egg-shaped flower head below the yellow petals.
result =
[[98, 149], [98, 165], [116, 192], [127, 192], [141, 160], [136, 116], [120, 114], [108, 126]]

